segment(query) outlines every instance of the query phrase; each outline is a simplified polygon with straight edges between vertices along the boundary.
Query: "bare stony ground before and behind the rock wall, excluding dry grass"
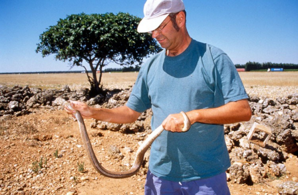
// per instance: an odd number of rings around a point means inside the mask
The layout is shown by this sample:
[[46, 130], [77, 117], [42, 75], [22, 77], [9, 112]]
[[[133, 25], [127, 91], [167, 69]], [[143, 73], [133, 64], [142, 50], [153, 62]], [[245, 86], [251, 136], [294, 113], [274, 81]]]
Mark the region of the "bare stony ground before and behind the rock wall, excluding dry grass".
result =
[[[128, 88], [129, 85], [132, 83], [120, 88]], [[272, 99], [298, 92], [297, 86], [258, 85], [245, 88], [249, 96]], [[92, 120], [86, 120], [89, 130], [90, 123]], [[136, 151], [138, 137], [112, 131], [100, 132], [103, 136], [91, 136], [100, 161], [111, 170], [122, 168], [122, 160], [113, 159], [108, 153], [110, 146], [118, 146], [124, 154], [127, 147]], [[0, 195], [144, 194], [146, 168], [123, 180], [105, 178], [94, 171], [81, 145], [77, 124], [62, 110], [37, 110], [18, 118], [0, 118]], [[59, 158], [54, 155], [56, 150], [61, 154]], [[133, 152], [126, 156], [134, 157]], [[297, 156], [290, 156], [292, 159], [292, 167], [297, 167]], [[41, 162], [44, 164], [38, 164]], [[81, 163], [84, 163], [83, 172], [78, 171]], [[294, 176], [298, 177], [297, 172], [275, 181], [291, 180]], [[232, 195], [277, 195], [272, 186], [229, 184]]]

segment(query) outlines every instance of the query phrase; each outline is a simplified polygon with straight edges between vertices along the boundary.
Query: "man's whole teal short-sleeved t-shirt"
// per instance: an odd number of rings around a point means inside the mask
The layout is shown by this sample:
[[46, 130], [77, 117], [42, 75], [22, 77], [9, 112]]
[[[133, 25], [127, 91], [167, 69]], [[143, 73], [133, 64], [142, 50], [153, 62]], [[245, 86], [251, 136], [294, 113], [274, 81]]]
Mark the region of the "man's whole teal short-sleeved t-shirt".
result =
[[[142, 66], [127, 106], [137, 112], [151, 108], [154, 130], [169, 114], [215, 108], [246, 98], [228, 56], [192, 40], [182, 54], [168, 57], [162, 51]], [[223, 125], [195, 123], [187, 132], [164, 130], [151, 145], [149, 170], [164, 180], [208, 178], [229, 166]]]

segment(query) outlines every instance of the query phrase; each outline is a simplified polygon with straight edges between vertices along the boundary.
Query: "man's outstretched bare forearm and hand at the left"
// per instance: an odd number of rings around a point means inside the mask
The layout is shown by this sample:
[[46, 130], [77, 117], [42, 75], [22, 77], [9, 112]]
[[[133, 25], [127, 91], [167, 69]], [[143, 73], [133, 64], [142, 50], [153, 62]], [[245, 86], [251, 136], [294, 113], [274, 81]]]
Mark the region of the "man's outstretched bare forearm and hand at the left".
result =
[[[109, 123], [133, 123], [141, 115], [141, 113], [134, 111], [127, 106], [121, 106], [112, 109], [93, 108], [83, 102], [78, 101], [71, 101], [71, 106], [74, 110], [79, 111], [82, 117], [85, 119], [93, 118]], [[67, 106], [65, 106], [64, 108], [68, 114], [75, 113], [75, 111], [68, 109]]]

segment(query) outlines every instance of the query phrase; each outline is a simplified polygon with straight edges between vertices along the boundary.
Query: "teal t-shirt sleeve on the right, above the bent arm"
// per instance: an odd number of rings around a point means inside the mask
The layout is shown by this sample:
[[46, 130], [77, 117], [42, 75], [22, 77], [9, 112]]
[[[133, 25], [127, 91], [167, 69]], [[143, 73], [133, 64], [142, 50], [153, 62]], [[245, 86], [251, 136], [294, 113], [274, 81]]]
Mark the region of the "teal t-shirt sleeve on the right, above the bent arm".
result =
[[224, 104], [247, 99], [240, 76], [230, 58], [222, 53], [214, 59], [216, 65], [217, 85], [224, 97]]

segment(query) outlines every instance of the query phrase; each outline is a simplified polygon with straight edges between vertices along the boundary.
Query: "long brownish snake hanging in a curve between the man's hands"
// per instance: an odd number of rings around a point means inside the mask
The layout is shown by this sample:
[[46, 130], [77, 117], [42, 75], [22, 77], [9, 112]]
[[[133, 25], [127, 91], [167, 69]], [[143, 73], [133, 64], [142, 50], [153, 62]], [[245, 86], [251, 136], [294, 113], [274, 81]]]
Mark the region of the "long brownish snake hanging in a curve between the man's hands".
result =
[[[70, 110], [74, 110], [70, 102], [65, 102], [65, 105]], [[183, 121], [184, 127], [182, 128], [182, 132], [185, 132], [190, 129], [191, 124], [185, 112], [182, 111], [181, 114], [183, 115], [183, 118], [184, 118], [184, 121]], [[155, 138], [163, 131], [162, 125], [160, 125], [155, 130], [153, 130], [138, 148], [132, 167], [127, 171], [116, 172], [116, 171], [110, 171], [105, 169], [96, 158], [88, 136], [88, 132], [86, 130], [83, 117], [81, 116], [80, 112], [75, 110], [74, 117], [78, 122], [78, 127], [82, 138], [83, 147], [86, 150], [89, 161], [91, 162], [92, 166], [98, 173], [109, 178], [116, 178], [116, 179], [128, 178], [135, 175], [141, 168], [146, 151], [149, 149], [150, 145], [155, 140]]]

